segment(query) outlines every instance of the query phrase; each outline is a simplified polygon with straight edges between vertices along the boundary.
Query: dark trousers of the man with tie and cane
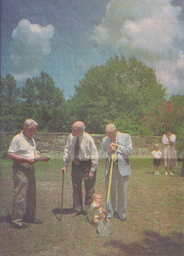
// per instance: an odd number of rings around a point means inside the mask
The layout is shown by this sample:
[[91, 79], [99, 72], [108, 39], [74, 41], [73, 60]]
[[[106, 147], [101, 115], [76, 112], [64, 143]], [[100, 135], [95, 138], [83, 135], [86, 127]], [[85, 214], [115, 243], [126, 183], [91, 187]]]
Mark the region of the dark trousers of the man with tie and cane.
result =
[[94, 186], [96, 181], [96, 173], [93, 179], [87, 179], [91, 169], [91, 160], [81, 161], [79, 165], [72, 162], [72, 187], [73, 187], [73, 210], [74, 212], [83, 211], [83, 198], [82, 198], [82, 181], [84, 180], [85, 211], [89, 213], [90, 205], [92, 203], [92, 195], [94, 194]]

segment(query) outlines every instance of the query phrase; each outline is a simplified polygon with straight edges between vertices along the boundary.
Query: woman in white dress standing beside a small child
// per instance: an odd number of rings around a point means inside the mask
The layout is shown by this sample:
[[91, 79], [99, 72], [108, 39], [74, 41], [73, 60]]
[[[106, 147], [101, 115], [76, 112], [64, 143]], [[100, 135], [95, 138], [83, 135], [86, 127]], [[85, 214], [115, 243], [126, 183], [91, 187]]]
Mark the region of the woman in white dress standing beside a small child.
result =
[[174, 149], [174, 143], [176, 141], [176, 135], [172, 133], [172, 128], [167, 129], [167, 134], [164, 134], [162, 137], [162, 143], [165, 146], [164, 149], [164, 166], [165, 166], [165, 175], [167, 176], [167, 167], [169, 167], [169, 172], [171, 176], [174, 174], [172, 173], [172, 167], [177, 166], [177, 154], [176, 150]]

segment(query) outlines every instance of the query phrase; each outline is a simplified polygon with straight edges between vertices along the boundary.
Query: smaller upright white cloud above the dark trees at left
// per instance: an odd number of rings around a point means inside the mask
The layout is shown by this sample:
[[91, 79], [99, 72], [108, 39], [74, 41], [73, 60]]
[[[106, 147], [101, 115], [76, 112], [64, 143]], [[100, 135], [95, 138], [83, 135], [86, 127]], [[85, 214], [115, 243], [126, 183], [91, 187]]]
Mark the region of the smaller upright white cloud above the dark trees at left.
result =
[[29, 20], [20, 20], [11, 35], [11, 74], [18, 82], [32, 78], [40, 73], [43, 57], [51, 51], [50, 39], [54, 27], [31, 24]]

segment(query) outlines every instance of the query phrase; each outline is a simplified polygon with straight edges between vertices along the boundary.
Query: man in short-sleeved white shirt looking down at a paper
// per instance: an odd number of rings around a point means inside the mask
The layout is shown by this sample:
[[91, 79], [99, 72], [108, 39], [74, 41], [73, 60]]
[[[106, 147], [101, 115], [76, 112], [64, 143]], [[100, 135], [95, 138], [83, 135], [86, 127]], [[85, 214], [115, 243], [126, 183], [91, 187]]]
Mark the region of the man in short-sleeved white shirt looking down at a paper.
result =
[[[33, 135], [37, 132], [37, 122], [27, 119], [23, 131], [13, 137], [8, 150], [8, 157], [13, 160], [13, 197], [12, 222], [13, 227], [25, 229], [23, 223], [41, 224], [35, 216], [36, 212], [36, 180], [34, 164], [40, 157], [36, 150]], [[49, 158], [43, 161], [47, 162]]]

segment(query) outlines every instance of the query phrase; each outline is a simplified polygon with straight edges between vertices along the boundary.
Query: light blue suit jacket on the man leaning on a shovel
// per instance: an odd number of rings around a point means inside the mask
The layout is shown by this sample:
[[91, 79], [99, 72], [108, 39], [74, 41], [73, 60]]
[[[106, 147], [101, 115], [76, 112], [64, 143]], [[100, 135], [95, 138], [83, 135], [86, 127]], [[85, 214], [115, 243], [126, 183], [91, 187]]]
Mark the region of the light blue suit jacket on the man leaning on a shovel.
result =
[[[110, 159], [112, 155], [108, 155], [108, 150], [110, 147], [110, 138], [104, 137], [102, 140], [102, 150], [100, 157], [106, 159], [105, 165], [105, 174], [107, 175], [110, 170]], [[129, 156], [132, 154], [132, 140], [128, 133], [120, 133], [117, 131], [117, 160], [118, 160], [118, 169], [122, 176], [130, 175], [130, 160]]]

